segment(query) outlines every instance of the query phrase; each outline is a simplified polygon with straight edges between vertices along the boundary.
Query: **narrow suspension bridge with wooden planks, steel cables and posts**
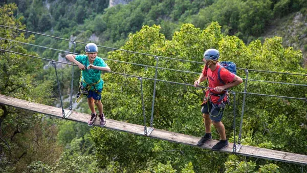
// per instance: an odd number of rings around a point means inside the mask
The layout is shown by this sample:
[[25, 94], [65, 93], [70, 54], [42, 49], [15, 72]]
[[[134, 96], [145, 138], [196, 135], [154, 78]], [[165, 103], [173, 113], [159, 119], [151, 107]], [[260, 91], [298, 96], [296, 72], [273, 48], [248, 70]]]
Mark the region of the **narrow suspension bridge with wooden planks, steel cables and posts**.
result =
[[[20, 44], [26, 44], [26, 45], [30, 45], [30, 46], [36, 46], [36, 47], [41, 47], [41, 48], [52, 49], [52, 50], [56, 50], [56, 51], [62, 51], [62, 52], [66, 52], [66, 53], [76, 54], [75, 53], [76, 43], [86, 44], [85, 42], [78, 42], [78, 41], [74, 41], [74, 40], [54, 37], [54, 36], [50, 36], [50, 35], [26, 31], [26, 30], [20, 30], [20, 29], [17, 29], [17, 28], [12, 28], [12, 27], [2, 26], [2, 25], [0, 25], [0, 27], [5, 27], [5, 28], [15, 29], [15, 30], [23, 31], [23, 32], [29, 32], [29, 33], [39, 34], [39, 35], [43, 35], [43, 36], [49, 36], [49, 37], [53, 37], [53, 38], [56, 38], [56, 39], [71, 41], [74, 44], [74, 52], [68, 52], [68, 51], [63, 51], [63, 50], [33, 45], [33, 44], [26, 43], [26, 42], [21, 42], [21, 41], [16, 41], [16, 40], [11, 40], [11, 39], [0, 37], [0, 40], [3, 39], [3, 40], [8, 40], [8, 41], [14, 41], [14, 42], [18, 42]], [[144, 136], [147, 136], [147, 137], [150, 137], [150, 138], [156, 138], [156, 139], [166, 140], [166, 141], [170, 141], [170, 142], [176, 142], [176, 143], [196, 146], [196, 143], [200, 140], [199, 137], [193, 137], [193, 136], [189, 136], [189, 135], [184, 135], [184, 134], [179, 134], [179, 133], [174, 133], [174, 132], [169, 132], [169, 131], [164, 131], [164, 130], [161, 130], [161, 129], [154, 128], [152, 126], [153, 107], [154, 107], [154, 104], [155, 104], [156, 82], [157, 81], [169, 82], [169, 83], [175, 83], [175, 84], [181, 84], [181, 85], [188, 85], [188, 86], [193, 87], [192, 84], [157, 79], [157, 70], [158, 69], [179, 71], [179, 72], [184, 72], [184, 73], [200, 74], [200, 73], [196, 73], [196, 72], [181, 71], [181, 70], [177, 70], [177, 69], [168, 69], [168, 68], [158, 67], [158, 59], [159, 58], [180, 60], [180, 61], [200, 63], [200, 64], [203, 64], [203, 63], [202, 62], [196, 62], [196, 61], [190, 61], [190, 60], [177, 59], [177, 58], [169, 58], [169, 57], [163, 57], [163, 56], [157, 56], [157, 55], [150, 55], [150, 54], [127, 51], [127, 50], [116, 49], [116, 48], [109, 48], [109, 47], [104, 47], [104, 46], [99, 46], [99, 45], [97, 45], [97, 46], [102, 47], [102, 48], [112, 49], [112, 50], [119, 50], [119, 51], [125, 51], [125, 52], [129, 52], [129, 53], [152, 56], [152, 57], [155, 57], [156, 60], [157, 60], [156, 66], [147, 66], [147, 65], [144, 65], [144, 64], [131, 63], [131, 62], [125, 62], [125, 61], [103, 58], [105, 60], [113, 60], [113, 61], [117, 61], [117, 62], [134, 64], [134, 65], [138, 65], [138, 66], [151, 67], [151, 68], [156, 69], [155, 78], [147, 78], [147, 77], [141, 77], [141, 76], [135, 76], [135, 75], [129, 75], [129, 74], [122, 74], [122, 73], [117, 73], [117, 72], [108, 72], [108, 73], [114, 73], [114, 74], [119, 74], [119, 75], [130, 76], [130, 77], [136, 77], [136, 78], [140, 79], [141, 96], [142, 96], [142, 104], [143, 104], [142, 106], [143, 106], [144, 126], [143, 125], [137, 125], [137, 124], [131, 124], [131, 123], [127, 123], [127, 122], [122, 122], [122, 121], [116, 121], [116, 120], [112, 120], [112, 119], [106, 119], [108, 123], [107, 123], [105, 128], [113, 129], [113, 130], [117, 130], [117, 131], [122, 131], [122, 132], [127, 132], [127, 133], [131, 133], [131, 134], [135, 134], [135, 135], [144, 135]], [[39, 59], [43, 59], [43, 60], [52, 61], [54, 68], [55, 68], [56, 76], [57, 76], [57, 69], [56, 69], [55, 63], [64, 63], [64, 64], [69, 64], [71, 66], [76, 66], [75, 64], [71, 64], [71, 63], [59, 62], [59, 61], [55, 61], [55, 60], [51, 60], [51, 59], [27, 55], [27, 54], [14, 52], [14, 51], [10, 51], [10, 50], [5, 50], [5, 49], [0, 49], [0, 51], [10, 52], [10, 53], [14, 53], [14, 54], [20, 54], [20, 55], [24, 55], [24, 56], [30, 56], [30, 57], [33, 57], [33, 58], [39, 58]], [[267, 97], [279, 97], [279, 98], [287, 98], [287, 99], [298, 99], [298, 100], [307, 101], [306, 98], [296, 98], [296, 97], [287, 97], [287, 96], [278, 96], [278, 95], [267, 95], [267, 94], [259, 94], [259, 93], [248, 93], [247, 92], [247, 82], [248, 82], [248, 80], [260, 81], [260, 82], [269, 82], [269, 83], [298, 85], [298, 86], [302, 86], [302, 87], [307, 87], [306, 84], [249, 79], [248, 78], [249, 71], [266, 72], [266, 73], [279, 73], [279, 74], [289, 74], [289, 75], [301, 75], [301, 76], [307, 76], [307, 75], [306, 74], [298, 74], [298, 73], [262, 71], [262, 70], [244, 69], [244, 68], [237, 68], [237, 69], [244, 70], [246, 72], [246, 78], [244, 79], [245, 80], [245, 88], [244, 88], [244, 92], [230, 91], [230, 93], [233, 94], [233, 96], [234, 96], [234, 99], [233, 99], [234, 100], [234, 103], [233, 103], [234, 104], [234, 143], [230, 143], [230, 145], [228, 147], [222, 149], [221, 151], [227, 152], [227, 153], [234, 153], [234, 154], [238, 154], [238, 155], [243, 155], [243, 156], [249, 156], [249, 157], [264, 158], [264, 159], [269, 159], [269, 160], [276, 160], [276, 161], [306, 165], [307, 164], [307, 156], [305, 156], [305, 155], [299, 155], [299, 154], [293, 154], [293, 153], [288, 153], [288, 152], [281, 152], [281, 151], [278, 151], [278, 150], [271, 150], [271, 149], [242, 145], [242, 144], [240, 144], [240, 138], [241, 138], [241, 134], [242, 134], [245, 97], [246, 97], [247, 94], [267, 96]], [[73, 92], [73, 89], [72, 89], [73, 73], [74, 73], [74, 68], [72, 70], [72, 82], [71, 82], [71, 93], [70, 93], [71, 96], [72, 96], [72, 92]], [[149, 127], [146, 126], [146, 117], [145, 117], [145, 111], [144, 111], [143, 90], [142, 90], [142, 80], [143, 79], [153, 80], [155, 82], [154, 90], [153, 90], [152, 111], [151, 111], [151, 119], [150, 119], [150, 126]], [[57, 82], [58, 82], [58, 90], [59, 90], [60, 100], [61, 100], [61, 108], [53, 107], [53, 106], [47, 106], [47, 105], [34, 103], [34, 102], [29, 102], [29, 101], [26, 101], [26, 100], [20, 100], [20, 99], [5, 96], [5, 95], [0, 95], [0, 104], [17, 107], [19, 109], [33, 111], [33, 112], [37, 112], [37, 113], [40, 113], [40, 114], [50, 115], [50, 116], [54, 116], [54, 117], [57, 117], [57, 118], [65, 118], [65, 119], [68, 119], [68, 120], [87, 123], [87, 118], [88, 118], [87, 114], [75, 112], [75, 111], [72, 110], [72, 97], [71, 97], [71, 101], [70, 101], [70, 109], [69, 110], [63, 109], [62, 97], [61, 97], [61, 92], [60, 92], [61, 90], [60, 90], [60, 85], [59, 85], [59, 81], [58, 81], [58, 76], [57, 76]], [[202, 87], [202, 88], [208, 89], [208, 87]], [[235, 139], [235, 136], [236, 136], [235, 135], [235, 115], [236, 115], [236, 113], [235, 113], [235, 105], [236, 105], [235, 94], [236, 93], [244, 94], [242, 115], [241, 115], [240, 129], [239, 129], [239, 139], [238, 139], [237, 144], [235, 143], [235, 141], [236, 141], [236, 139]], [[95, 125], [99, 125], [98, 122], [95, 122]], [[210, 149], [217, 142], [218, 141], [216, 141], [216, 140], [211, 140], [211, 141], [205, 143], [201, 147]]]

